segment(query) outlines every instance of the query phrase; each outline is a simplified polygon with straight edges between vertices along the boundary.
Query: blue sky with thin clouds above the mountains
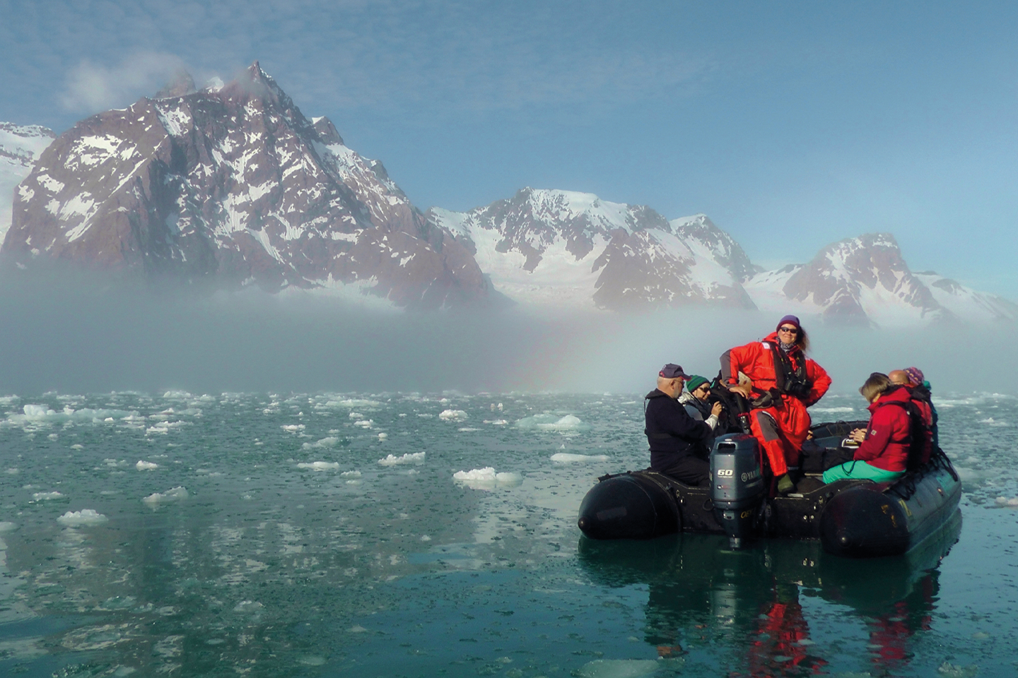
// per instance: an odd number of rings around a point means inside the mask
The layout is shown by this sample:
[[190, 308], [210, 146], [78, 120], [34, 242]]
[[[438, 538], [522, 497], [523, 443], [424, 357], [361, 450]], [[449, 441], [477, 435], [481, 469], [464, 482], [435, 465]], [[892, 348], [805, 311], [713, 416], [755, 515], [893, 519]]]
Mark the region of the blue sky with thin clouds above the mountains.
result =
[[[256, 59], [421, 208], [522, 186], [706, 212], [757, 263], [893, 233], [1018, 298], [1018, 4], [0, 0], [0, 120]], [[200, 82], [201, 84], [201, 82]]]

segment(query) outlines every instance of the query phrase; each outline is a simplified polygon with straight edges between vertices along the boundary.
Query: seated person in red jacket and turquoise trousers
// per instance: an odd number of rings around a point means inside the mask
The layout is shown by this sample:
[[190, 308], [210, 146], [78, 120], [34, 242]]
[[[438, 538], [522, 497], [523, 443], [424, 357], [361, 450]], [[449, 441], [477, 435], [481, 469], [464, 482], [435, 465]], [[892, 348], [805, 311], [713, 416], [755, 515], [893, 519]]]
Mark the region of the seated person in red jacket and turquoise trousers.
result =
[[905, 408], [911, 394], [880, 372], [870, 374], [859, 392], [869, 400], [869, 425], [849, 434], [849, 438], [859, 443], [859, 448], [852, 455], [852, 461], [825, 471], [825, 483], [843, 478], [885, 483], [905, 475], [912, 439]]

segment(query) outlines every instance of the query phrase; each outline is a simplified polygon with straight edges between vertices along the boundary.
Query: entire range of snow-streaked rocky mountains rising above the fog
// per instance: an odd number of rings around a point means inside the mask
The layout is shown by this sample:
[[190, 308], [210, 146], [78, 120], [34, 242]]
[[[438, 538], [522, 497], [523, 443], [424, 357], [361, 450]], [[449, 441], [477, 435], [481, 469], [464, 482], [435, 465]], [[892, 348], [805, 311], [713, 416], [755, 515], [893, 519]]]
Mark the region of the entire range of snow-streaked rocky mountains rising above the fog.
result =
[[1018, 320], [1006, 299], [912, 272], [890, 234], [765, 271], [705, 214], [668, 221], [589, 193], [527, 187], [465, 212], [425, 213], [328, 118], [305, 118], [258, 62], [202, 89], [178, 73], [156, 98], [54, 138], [0, 123], [0, 189], [13, 198], [9, 208], [0, 199], [0, 254], [21, 267], [59, 259], [403, 308], [508, 298], [610, 311], [756, 308], [888, 327]]

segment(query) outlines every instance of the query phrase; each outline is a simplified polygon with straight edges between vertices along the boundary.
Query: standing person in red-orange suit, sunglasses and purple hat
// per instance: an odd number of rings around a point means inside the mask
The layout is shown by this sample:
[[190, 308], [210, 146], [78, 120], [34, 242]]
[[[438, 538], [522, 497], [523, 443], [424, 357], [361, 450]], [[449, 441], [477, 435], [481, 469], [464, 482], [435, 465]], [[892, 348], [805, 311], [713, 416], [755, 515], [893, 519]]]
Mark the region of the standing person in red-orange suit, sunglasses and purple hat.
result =
[[[799, 466], [809, 434], [806, 408], [831, 387], [824, 368], [806, 358], [809, 338], [799, 319], [786, 315], [760, 342], [735, 347], [721, 356], [721, 375], [729, 390], [749, 399], [749, 426], [778, 479], [778, 491], [795, 487], [789, 469]], [[749, 378], [739, 382], [739, 373]]]

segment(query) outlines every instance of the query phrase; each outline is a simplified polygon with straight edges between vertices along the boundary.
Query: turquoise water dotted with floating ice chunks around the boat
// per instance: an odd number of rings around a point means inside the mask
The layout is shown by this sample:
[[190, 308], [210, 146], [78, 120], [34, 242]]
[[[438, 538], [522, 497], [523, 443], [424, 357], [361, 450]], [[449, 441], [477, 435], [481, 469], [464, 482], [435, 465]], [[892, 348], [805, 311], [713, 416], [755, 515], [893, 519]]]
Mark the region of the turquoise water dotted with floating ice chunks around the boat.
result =
[[582, 539], [634, 395], [6, 397], [0, 675], [1015, 675], [1018, 400], [938, 404], [963, 523], [852, 561]]

